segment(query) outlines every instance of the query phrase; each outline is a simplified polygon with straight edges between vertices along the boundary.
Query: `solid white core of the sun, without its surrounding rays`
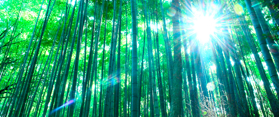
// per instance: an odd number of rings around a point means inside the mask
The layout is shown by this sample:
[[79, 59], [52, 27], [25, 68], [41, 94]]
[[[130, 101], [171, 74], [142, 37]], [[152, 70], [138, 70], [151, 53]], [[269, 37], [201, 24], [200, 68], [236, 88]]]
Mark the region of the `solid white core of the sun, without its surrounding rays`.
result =
[[216, 20], [213, 16], [204, 16], [203, 14], [195, 16], [194, 20], [194, 32], [197, 33], [197, 39], [200, 42], [208, 42], [210, 35], [213, 35], [216, 31]]

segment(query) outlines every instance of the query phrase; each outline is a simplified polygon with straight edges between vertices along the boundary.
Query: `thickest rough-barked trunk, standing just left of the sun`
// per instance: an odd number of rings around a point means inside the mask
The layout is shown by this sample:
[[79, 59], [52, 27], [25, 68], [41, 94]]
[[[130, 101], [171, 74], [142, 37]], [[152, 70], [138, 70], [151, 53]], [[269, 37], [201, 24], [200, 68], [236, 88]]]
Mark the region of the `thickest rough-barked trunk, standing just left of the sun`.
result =
[[173, 22], [173, 79], [171, 83], [171, 104], [170, 104], [170, 116], [177, 117], [182, 116], [182, 55], [181, 55], [181, 34], [179, 25], [180, 9], [179, 1], [173, 0], [171, 4], [175, 14], [172, 17]]

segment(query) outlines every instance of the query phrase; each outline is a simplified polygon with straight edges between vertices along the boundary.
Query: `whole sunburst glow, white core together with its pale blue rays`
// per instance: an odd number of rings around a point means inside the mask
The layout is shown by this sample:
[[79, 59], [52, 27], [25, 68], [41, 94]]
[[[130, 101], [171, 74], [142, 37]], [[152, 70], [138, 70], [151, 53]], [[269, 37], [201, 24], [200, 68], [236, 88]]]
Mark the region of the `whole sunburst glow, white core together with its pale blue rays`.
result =
[[227, 27], [232, 22], [231, 16], [222, 13], [221, 8], [220, 4], [214, 2], [205, 6], [192, 7], [190, 17], [184, 18], [188, 36], [193, 35], [201, 46], [207, 45], [211, 40], [224, 44], [222, 36], [229, 36]]

